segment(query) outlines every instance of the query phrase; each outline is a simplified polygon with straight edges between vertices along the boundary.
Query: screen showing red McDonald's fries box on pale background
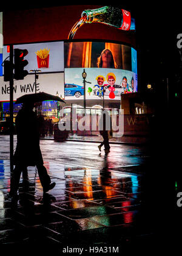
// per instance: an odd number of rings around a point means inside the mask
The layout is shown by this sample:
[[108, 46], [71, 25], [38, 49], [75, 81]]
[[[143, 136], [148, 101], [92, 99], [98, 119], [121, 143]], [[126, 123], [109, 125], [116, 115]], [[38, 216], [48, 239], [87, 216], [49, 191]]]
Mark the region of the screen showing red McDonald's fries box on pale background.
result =
[[[27, 49], [29, 53], [24, 57], [29, 62], [27, 71], [40, 69], [44, 73], [64, 71], [64, 42], [46, 42], [16, 44], [13, 49]], [[3, 48], [3, 59], [10, 55], [8, 46]], [[8, 60], [8, 59], [7, 59]]]

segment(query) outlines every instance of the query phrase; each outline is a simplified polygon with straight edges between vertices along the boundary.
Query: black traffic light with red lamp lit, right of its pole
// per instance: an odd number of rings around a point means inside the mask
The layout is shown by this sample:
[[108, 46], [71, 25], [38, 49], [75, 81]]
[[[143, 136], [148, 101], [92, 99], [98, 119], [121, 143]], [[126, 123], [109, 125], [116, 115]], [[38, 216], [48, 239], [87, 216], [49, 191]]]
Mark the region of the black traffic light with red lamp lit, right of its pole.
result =
[[24, 67], [29, 63], [27, 60], [24, 60], [25, 55], [29, 52], [27, 49], [14, 49], [14, 63], [15, 63], [15, 76], [16, 80], [24, 79], [29, 72], [24, 70]]

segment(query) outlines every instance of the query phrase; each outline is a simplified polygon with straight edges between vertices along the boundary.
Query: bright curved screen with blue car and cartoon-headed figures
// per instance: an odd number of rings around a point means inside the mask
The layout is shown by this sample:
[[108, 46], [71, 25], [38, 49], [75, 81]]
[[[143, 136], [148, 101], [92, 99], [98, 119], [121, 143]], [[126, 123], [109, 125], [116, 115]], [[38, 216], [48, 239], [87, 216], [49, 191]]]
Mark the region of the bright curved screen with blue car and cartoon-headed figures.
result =
[[[86, 68], [86, 99], [121, 99], [137, 91], [137, 75], [124, 69]], [[65, 99], [83, 99], [83, 68], [65, 69]], [[103, 87], [105, 92], [103, 93]]]

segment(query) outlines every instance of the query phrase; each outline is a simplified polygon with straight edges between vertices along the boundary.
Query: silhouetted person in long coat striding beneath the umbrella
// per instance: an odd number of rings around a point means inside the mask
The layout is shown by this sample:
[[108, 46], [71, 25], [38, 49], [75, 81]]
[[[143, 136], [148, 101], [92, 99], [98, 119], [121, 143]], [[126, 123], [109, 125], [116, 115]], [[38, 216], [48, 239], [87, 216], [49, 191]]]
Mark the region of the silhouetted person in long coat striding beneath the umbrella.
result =
[[16, 195], [21, 172], [27, 169], [27, 166], [36, 166], [38, 169], [44, 193], [55, 187], [55, 182], [51, 183], [42, 159], [39, 146], [38, 118], [36, 113], [33, 112], [33, 107], [34, 104], [32, 102], [24, 103], [16, 116], [17, 144], [13, 158], [15, 169], [11, 176], [11, 196]]

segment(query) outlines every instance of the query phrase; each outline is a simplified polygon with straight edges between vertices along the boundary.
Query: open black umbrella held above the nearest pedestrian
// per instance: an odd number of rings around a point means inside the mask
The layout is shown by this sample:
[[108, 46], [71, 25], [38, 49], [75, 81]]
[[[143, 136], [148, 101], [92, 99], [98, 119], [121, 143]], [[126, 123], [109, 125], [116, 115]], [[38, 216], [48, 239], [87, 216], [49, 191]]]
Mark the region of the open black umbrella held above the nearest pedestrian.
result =
[[25, 94], [18, 99], [16, 99], [15, 104], [20, 104], [24, 102], [40, 102], [40, 101], [63, 101], [60, 97], [49, 94], [49, 93], [32, 93], [32, 94]]

